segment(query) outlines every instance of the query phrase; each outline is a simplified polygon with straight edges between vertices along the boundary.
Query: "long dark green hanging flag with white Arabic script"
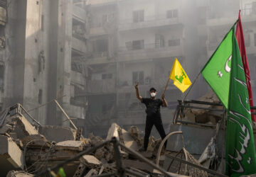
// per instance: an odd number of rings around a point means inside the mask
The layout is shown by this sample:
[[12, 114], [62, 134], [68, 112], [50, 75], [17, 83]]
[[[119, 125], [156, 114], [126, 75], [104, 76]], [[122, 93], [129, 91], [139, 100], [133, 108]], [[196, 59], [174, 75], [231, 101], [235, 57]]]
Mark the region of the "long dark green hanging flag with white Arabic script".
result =
[[235, 33], [232, 40], [225, 170], [228, 176], [241, 176], [256, 173], [256, 158], [245, 72]]

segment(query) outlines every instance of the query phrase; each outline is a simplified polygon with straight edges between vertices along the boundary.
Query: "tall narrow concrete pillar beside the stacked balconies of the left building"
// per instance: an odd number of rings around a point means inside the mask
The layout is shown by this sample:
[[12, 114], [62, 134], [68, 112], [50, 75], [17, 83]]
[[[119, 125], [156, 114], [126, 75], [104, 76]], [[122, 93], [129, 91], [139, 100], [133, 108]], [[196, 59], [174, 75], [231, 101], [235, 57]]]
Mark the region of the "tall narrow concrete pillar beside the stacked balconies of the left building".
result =
[[[64, 96], [60, 99], [60, 105], [67, 113], [70, 113], [70, 72], [71, 72], [71, 40], [72, 40], [72, 1], [60, 0], [58, 3], [58, 52], [57, 52], [57, 87], [56, 96]], [[60, 125], [66, 120], [63, 113], [57, 109], [57, 119]], [[65, 121], [65, 125], [69, 125]]]

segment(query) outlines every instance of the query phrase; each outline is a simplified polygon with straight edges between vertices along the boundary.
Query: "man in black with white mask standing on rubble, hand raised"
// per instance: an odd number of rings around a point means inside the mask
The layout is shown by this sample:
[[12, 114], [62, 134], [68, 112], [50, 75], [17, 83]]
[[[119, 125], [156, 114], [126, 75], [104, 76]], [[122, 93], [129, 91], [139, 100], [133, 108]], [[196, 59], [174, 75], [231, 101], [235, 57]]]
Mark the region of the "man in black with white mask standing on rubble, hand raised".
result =
[[[156, 89], [154, 89], [153, 87], [149, 89], [150, 98], [142, 98], [142, 96], [139, 95], [138, 82], [135, 83], [135, 90], [137, 98], [146, 105], [144, 147], [139, 149], [139, 151], [145, 152], [149, 144], [149, 135], [151, 133], [153, 125], [156, 126], [156, 130], [159, 132], [161, 139], [164, 139], [164, 137], [166, 137], [166, 133], [164, 132], [164, 127], [161, 120], [160, 106], [166, 107], [167, 102], [164, 98], [164, 93], [161, 96], [161, 99], [156, 99]], [[166, 143], [164, 145], [166, 147]]]

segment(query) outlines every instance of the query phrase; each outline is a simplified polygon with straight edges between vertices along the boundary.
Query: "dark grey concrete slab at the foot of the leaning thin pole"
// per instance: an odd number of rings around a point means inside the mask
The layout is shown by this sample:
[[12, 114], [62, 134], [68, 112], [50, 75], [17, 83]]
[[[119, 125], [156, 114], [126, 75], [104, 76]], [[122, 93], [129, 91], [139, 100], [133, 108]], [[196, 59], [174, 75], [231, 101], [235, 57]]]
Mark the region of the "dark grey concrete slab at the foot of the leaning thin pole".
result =
[[51, 142], [64, 142], [75, 140], [76, 130], [70, 127], [57, 125], [42, 125], [38, 127], [38, 132]]

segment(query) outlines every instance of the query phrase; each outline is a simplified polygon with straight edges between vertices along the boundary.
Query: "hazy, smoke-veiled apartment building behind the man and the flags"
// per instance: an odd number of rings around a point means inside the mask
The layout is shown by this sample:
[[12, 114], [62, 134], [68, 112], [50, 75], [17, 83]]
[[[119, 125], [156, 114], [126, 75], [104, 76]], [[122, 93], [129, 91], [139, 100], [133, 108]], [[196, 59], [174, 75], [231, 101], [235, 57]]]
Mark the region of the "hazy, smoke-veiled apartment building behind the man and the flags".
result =
[[[135, 125], [144, 130], [144, 105], [135, 96], [134, 82], [139, 82], [143, 97], [149, 96], [151, 86], [157, 89], [160, 97], [175, 58], [193, 81], [238, 18], [239, 9], [245, 28], [252, 89], [256, 86], [253, 62], [256, 56], [255, 0], [225, 3], [210, 0], [88, 0], [87, 6], [90, 6], [85, 60], [88, 72], [87, 132], [104, 137], [112, 122], [125, 128]], [[208, 90], [203, 77], [199, 76], [188, 98], [198, 98]], [[169, 108], [161, 110], [167, 131], [177, 99], [183, 96], [169, 84], [166, 90]], [[156, 135], [154, 129], [153, 135]]]

